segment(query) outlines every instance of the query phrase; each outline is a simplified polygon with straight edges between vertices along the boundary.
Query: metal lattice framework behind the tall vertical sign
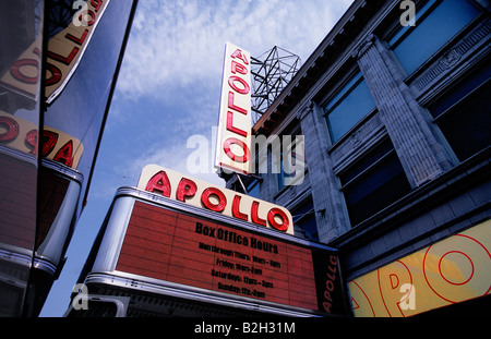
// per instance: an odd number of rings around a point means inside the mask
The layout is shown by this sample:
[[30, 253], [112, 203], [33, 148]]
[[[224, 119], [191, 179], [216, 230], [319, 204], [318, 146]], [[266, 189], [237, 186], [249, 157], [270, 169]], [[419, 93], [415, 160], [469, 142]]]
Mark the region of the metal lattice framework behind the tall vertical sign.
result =
[[259, 58], [251, 58], [253, 123], [267, 110], [300, 69], [300, 57], [273, 47]]

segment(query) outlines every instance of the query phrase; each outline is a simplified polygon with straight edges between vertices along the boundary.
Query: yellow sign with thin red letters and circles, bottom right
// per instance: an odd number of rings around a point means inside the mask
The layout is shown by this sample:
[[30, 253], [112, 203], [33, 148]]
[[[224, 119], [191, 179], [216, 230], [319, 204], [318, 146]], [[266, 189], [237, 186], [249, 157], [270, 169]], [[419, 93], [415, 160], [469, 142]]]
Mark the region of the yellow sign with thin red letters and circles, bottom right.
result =
[[490, 294], [490, 232], [488, 220], [350, 281], [355, 315], [409, 316]]

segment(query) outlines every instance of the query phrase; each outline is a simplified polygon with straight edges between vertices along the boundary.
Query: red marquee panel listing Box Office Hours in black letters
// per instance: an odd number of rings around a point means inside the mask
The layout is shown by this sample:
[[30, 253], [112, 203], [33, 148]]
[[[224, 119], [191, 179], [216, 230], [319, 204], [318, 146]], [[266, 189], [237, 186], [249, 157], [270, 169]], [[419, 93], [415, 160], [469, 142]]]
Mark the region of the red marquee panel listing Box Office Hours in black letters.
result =
[[116, 269], [331, 313], [336, 261], [325, 250], [135, 202]]

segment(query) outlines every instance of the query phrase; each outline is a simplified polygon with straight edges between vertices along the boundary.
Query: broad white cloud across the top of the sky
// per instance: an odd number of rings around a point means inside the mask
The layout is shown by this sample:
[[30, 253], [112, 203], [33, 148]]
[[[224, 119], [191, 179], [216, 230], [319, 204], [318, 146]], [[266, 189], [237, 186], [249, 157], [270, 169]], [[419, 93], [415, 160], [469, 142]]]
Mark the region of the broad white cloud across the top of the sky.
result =
[[226, 41], [253, 56], [279, 46], [306, 60], [351, 2], [142, 0], [118, 89], [133, 99], [218, 90]]

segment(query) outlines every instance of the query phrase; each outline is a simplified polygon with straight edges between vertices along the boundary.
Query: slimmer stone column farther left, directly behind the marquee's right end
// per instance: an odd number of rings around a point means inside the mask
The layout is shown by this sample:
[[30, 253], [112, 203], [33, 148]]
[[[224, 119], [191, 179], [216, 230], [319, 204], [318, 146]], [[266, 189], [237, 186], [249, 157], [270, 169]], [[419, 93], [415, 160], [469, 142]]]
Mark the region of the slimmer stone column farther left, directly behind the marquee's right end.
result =
[[349, 229], [339, 180], [327, 154], [327, 125], [322, 108], [311, 102], [301, 113], [300, 126], [306, 138], [306, 156], [315, 209], [319, 240], [328, 242]]

